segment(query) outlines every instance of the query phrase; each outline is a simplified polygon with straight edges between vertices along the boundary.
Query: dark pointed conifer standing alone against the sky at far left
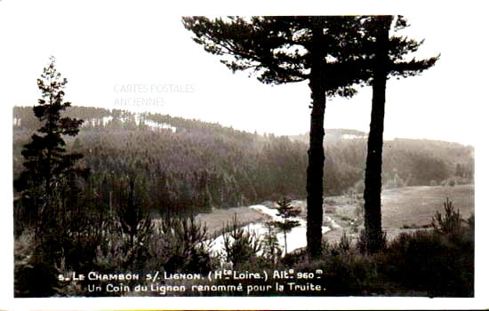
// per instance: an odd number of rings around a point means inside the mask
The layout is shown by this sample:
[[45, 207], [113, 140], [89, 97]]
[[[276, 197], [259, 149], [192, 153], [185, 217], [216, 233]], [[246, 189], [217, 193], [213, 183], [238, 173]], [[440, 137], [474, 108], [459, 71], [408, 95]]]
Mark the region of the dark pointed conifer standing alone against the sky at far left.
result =
[[37, 234], [49, 227], [58, 219], [55, 200], [59, 200], [60, 187], [72, 185], [78, 174], [87, 171], [76, 168], [76, 162], [83, 156], [79, 153], [68, 153], [64, 135], [76, 136], [83, 120], [62, 117], [61, 112], [70, 107], [63, 101], [66, 78], [62, 78], [55, 68], [54, 57], [50, 58], [48, 67], [44, 68], [37, 86], [42, 93], [38, 105], [34, 106], [34, 114], [42, 126], [34, 133], [31, 140], [22, 150], [25, 170], [19, 179], [14, 180], [14, 187], [20, 192], [23, 212], [28, 213], [29, 225], [36, 229]]

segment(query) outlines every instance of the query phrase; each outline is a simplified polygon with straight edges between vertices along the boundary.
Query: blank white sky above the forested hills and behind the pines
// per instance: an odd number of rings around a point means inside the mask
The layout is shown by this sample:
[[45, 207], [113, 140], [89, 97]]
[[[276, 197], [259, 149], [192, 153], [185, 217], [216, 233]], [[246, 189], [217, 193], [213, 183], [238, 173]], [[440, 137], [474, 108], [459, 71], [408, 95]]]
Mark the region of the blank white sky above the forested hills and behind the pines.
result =
[[[54, 55], [61, 74], [68, 78], [66, 100], [74, 105], [146, 110], [249, 132], [309, 131], [307, 82], [270, 86], [247, 73], [233, 75], [182, 27], [180, 16], [197, 13], [202, 7], [194, 11], [181, 4], [169, 8], [164, 2], [12, 0], [0, 5], [3, 104], [35, 103], [39, 97], [36, 78]], [[468, 14], [456, 9], [450, 8], [449, 13], [406, 10], [412, 26], [405, 34], [425, 39], [417, 55], [441, 53], [441, 59], [421, 76], [389, 81], [387, 139], [475, 144], [477, 107], [485, 91], [477, 56], [484, 55], [481, 37], [485, 28], [483, 20], [476, 18], [477, 10]], [[202, 11], [212, 12], [207, 7]], [[330, 12], [349, 10], [324, 10]], [[178, 85], [180, 92], [168, 84]], [[371, 88], [365, 88], [351, 100], [328, 99], [325, 128], [367, 132], [371, 94]], [[124, 100], [130, 100], [130, 105], [122, 105]], [[133, 100], [145, 103], [135, 106]]]

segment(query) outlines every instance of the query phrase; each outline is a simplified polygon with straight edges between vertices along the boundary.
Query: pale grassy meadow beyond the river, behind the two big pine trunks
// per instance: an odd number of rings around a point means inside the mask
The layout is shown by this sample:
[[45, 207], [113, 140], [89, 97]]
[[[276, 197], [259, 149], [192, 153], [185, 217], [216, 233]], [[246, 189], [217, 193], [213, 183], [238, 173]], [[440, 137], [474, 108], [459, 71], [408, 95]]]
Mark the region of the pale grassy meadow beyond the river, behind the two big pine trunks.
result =
[[[460, 210], [463, 219], [469, 218], [475, 212], [474, 185], [447, 186], [415, 186], [398, 187], [382, 191], [382, 227], [389, 240], [401, 232], [411, 232], [423, 227], [431, 227], [431, 218], [436, 211], [444, 211], [444, 203], [448, 198], [455, 210]], [[361, 214], [362, 195], [353, 197], [349, 195], [336, 195], [325, 197], [325, 220], [327, 226], [331, 219], [341, 227], [333, 228], [325, 234], [325, 240], [331, 243], [339, 242], [343, 231], [353, 239], [363, 227]], [[274, 204], [265, 202], [269, 207]], [[307, 217], [307, 203], [305, 200], [294, 200], [293, 206], [301, 210], [301, 217]], [[236, 219], [241, 224], [265, 221], [267, 215], [261, 214], [248, 207], [235, 207], [229, 209], [213, 209], [210, 213], [201, 213], [196, 216], [208, 229], [209, 235], [220, 233], [220, 230]]]

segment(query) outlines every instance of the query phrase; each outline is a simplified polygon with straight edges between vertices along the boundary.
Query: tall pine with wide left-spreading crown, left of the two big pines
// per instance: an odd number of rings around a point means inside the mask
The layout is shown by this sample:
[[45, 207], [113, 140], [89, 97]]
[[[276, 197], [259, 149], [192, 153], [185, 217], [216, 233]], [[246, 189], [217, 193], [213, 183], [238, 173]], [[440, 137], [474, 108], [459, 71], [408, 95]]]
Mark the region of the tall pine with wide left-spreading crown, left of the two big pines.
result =
[[[264, 84], [309, 81], [308, 252], [321, 254], [326, 95], [352, 96], [359, 80], [355, 47], [357, 17], [277, 16], [183, 19], [206, 52], [233, 72], [252, 70]], [[353, 29], [353, 30], [352, 30]]]

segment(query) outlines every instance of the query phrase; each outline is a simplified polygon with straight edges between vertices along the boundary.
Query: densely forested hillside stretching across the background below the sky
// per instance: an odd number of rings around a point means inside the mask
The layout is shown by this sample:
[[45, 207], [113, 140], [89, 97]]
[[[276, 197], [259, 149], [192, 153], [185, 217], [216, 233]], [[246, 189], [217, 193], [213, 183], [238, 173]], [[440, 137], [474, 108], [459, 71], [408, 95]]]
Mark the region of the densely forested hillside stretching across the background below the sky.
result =
[[[84, 197], [98, 210], [122, 204], [132, 185], [150, 211], [208, 211], [306, 196], [306, 135], [258, 135], [196, 120], [104, 108], [68, 108], [84, 125], [68, 149], [90, 168]], [[13, 173], [20, 151], [39, 127], [31, 107], [13, 109]], [[329, 133], [329, 134], [328, 134]], [[326, 131], [325, 194], [359, 192], [365, 171], [365, 133]], [[434, 140], [388, 140], [384, 187], [471, 183], [473, 148]]]

